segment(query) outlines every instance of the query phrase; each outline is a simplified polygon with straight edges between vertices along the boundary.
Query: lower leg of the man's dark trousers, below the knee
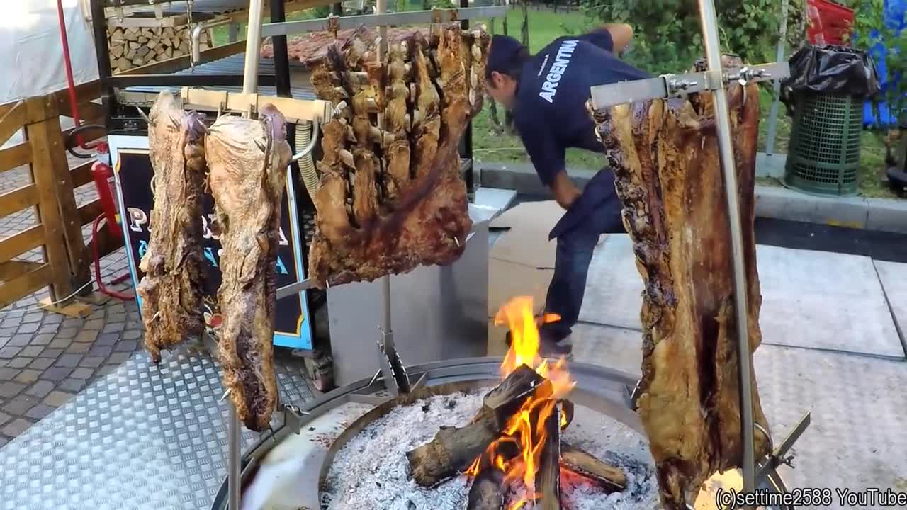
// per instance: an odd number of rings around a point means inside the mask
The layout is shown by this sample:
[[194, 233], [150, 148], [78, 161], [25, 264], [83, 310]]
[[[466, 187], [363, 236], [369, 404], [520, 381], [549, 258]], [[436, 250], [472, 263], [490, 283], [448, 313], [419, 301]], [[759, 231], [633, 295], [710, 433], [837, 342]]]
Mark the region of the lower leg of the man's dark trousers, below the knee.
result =
[[597, 232], [577, 229], [558, 238], [554, 276], [548, 287], [545, 312], [558, 314], [561, 320], [542, 325], [539, 329], [541, 338], [560, 342], [570, 336], [571, 328], [580, 319], [586, 277], [599, 236]]

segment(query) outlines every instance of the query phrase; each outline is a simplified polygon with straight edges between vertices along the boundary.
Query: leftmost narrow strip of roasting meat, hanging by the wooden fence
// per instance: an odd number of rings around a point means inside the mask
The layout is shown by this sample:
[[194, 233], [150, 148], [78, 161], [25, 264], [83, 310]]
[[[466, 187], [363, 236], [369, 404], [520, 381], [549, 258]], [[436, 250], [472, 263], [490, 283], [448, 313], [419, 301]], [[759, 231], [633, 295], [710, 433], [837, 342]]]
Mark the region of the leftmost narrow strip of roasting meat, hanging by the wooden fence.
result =
[[201, 315], [201, 194], [205, 179], [204, 116], [187, 113], [170, 92], [151, 108], [148, 147], [153, 205], [148, 250], [141, 257], [144, 273], [137, 288], [145, 348], [161, 361], [161, 349], [197, 336]]

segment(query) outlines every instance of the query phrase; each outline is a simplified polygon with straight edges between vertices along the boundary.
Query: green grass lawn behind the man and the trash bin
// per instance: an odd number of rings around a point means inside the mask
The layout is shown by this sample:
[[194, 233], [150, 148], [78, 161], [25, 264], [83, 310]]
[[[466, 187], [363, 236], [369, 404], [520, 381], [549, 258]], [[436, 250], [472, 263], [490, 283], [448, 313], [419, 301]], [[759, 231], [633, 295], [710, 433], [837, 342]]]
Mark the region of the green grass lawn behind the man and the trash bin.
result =
[[[418, 8], [417, 5], [406, 5], [407, 9]], [[314, 11], [304, 11], [288, 15], [288, 19], [307, 19], [314, 15]], [[496, 34], [502, 33], [501, 20], [497, 20], [492, 26], [490, 20], [478, 20], [489, 28], [493, 28]], [[507, 15], [508, 34], [517, 38], [520, 36], [522, 25], [522, 10], [511, 9]], [[532, 53], [538, 52], [546, 44], [564, 34], [581, 34], [590, 30], [596, 24], [590, 22], [585, 15], [579, 12], [559, 12], [553, 13], [547, 10], [529, 11], [529, 46]], [[245, 33], [245, 25], [242, 25], [239, 34]], [[226, 44], [228, 40], [227, 26], [219, 26], [214, 29], [214, 40], [216, 44]], [[658, 73], [662, 70], [649, 70]], [[663, 70], [670, 71], [670, 70]], [[766, 131], [768, 127], [768, 115], [772, 104], [771, 85], [766, 84], [761, 87], [760, 104], [762, 116], [759, 123], [759, 151], [764, 151], [766, 147]], [[503, 109], [498, 107], [499, 119], [503, 121]], [[780, 105], [778, 110], [777, 136], [775, 139], [775, 152], [787, 151], [787, 139], [790, 136], [790, 119], [785, 113], [784, 105]], [[489, 113], [488, 103], [486, 102], [483, 111], [473, 119], [473, 152], [478, 161], [483, 162], [528, 162], [529, 158], [522, 147], [522, 142], [517, 136], [510, 133], [499, 134], [492, 129], [491, 116]], [[862, 147], [860, 153], [860, 170], [859, 183], [860, 194], [867, 197], [885, 197], [896, 198], [896, 195], [881, 181], [885, 172], [885, 145], [883, 134], [880, 132], [863, 132]], [[571, 168], [582, 169], [599, 169], [605, 164], [604, 157], [594, 152], [582, 151], [579, 149], [569, 149], [567, 151], [567, 165]], [[775, 179], [759, 179], [759, 182], [767, 185], [780, 186], [781, 183]]]

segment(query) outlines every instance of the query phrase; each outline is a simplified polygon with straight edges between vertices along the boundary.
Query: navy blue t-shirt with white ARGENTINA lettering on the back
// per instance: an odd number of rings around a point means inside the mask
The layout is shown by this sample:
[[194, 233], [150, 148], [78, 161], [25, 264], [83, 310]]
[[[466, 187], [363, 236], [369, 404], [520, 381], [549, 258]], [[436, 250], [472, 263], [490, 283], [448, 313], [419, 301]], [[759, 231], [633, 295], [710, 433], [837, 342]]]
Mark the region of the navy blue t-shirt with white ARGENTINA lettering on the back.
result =
[[555, 39], [522, 68], [513, 122], [541, 182], [564, 170], [569, 147], [602, 152], [586, 111], [590, 87], [649, 78], [611, 53], [607, 30]]

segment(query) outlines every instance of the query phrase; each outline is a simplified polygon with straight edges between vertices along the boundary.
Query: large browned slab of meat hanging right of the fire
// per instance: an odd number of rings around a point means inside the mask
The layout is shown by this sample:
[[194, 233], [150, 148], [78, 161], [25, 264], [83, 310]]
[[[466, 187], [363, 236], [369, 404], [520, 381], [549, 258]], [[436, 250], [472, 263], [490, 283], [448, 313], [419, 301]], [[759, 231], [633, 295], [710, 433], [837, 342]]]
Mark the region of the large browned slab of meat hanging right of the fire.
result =
[[[727, 58], [725, 64], [742, 63]], [[734, 83], [728, 94], [755, 350], [761, 341], [753, 230], [758, 88]], [[662, 502], [668, 510], [684, 509], [708, 476], [742, 461], [731, 241], [713, 100], [701, 93], [593, 116], [646, 287], [639, 415]], [[755, 375], [752, 387], [756, 422], [767, 430]], [[766, 437], [756, 434], [756, 457], [766, 453]]]

